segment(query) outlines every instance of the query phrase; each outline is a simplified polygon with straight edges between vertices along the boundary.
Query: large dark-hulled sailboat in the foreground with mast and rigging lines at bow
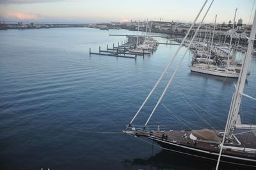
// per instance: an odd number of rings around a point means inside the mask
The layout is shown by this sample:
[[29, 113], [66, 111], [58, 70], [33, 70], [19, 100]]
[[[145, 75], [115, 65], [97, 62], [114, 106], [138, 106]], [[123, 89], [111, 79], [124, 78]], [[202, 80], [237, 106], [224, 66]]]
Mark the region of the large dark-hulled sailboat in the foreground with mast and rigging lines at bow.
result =
[[[212, 0], [213, 2], [213, 0]], [[204, 8], [207, 1], [205, 1], [202, 9]], [[211, 3], [212, 4], [212, 3]], [[211, 5], [209, 6], [209, 8]], [[209, 8], [207, 12], [209, 11]], [[202, 9], [198, 13], [196, 19], [202, 12]], [[205, 15], [207, 14], [205, 13]], [[205, 17], [204, 15], [204, 17]], [[194, 26], [195, 21], [191, 25], [189, 31]], [[202, 20], [202, 22], [204, 19]], [[202, 23], [201, 22], [201, 23]], [[200, 26], [198, 26], [199, 29]], [[198, 29], [196, 31], [198, 31]], [[189, 33], [188, 31], [188, 33]], [[195, 33], [196, 35], [196, 33]], [[127, 125], [127, 128], [124, 130], [127, 134], [133, 134], [138, 137], [148, 137], [148, 139], [152, 139], [156, 141], [164, 150], [175, 151], [177, 153], [182, 153], [185, 155], [190, 155], [193, 157], [205, 158], [209, 160], [214, 160], [217, 162], [216, 169], [218, 169], [220, 162], [225, 162], [228, 164], [237, 164], [241, 166], [255, 167], [256, 168], [256, 125], [244, 125], [241, 123], [241, 119], [239, 116], [239, 107], [241, 104], [242, 96], [248, 97], [248, 95], [244, 95], [243, 89], [246, 81], [246, 74], [248, 72], [249, 62], [252, 53], [252, 47], [254, 38], [256, 35], [256, 13], [253, 19], [253, 26], [250, 38], [248, 40], [248, 49], [246, 52], [246, 56], [244, 57], [244, 63], [241, 68], [241, 73], [239, 75], [239, 79], [237, 81], [236, 93], [234, 93], [232, 97], [232, 102], [230, 104], [230, 111], [228, 113], [227, 124], [225, 130], [210, 130], [210, 129], [201, 129], [201, 130], [161, 130], [157, 128], [157, 130], [147, 130], [147, 123], [152, 117], [154, 111], [156, 111], [157, 106], [160, 104], [164, 93], [168, 86], [170, 86], [175, 73], [177, 72], [182, 59], [180, 60], [179, 65], [175, 68], [170, 81], [166, 85], [161, 97], [159, 98], [156, 106], [151, 112], [147, 122], [145, 123], [143, 128], [137, 128], [132, 125], [132, 122], [141, 111], [141, 108], [145, 105], [148, 98], [152, 95], [154, 89], [156, 89], [157, 85], [163, 79], [164, 74], [167, 72], [168, 68], [172, 65], [172, 61], [168, 64], [161, 77], [157, 81], [156, 85], [150, 91], [148, 97], [145, 102], [141, 105], [139, 111], [135, 114], [132, 121]], [[188, 34], [184, 37], [184, 40], [188, 37]], [[195, 36], [193, 37], [195, 38]], [[182, 41], [182, 43], [184, 42]], [[191, 40], [192, 42], [193, 40]], [[182, 45], [181, 43], [181, 45]], [[190, 45], [190, 44], [189, 44]], [[180, 49], [180, 48], [179, 48]], [[179, 52], [179, 49], [177, 52]], [[177, 52], [173, 56], [177, 55]], [[252, 97], [250, 97], [252, 98]], [[255, 98], [252, 98], [256, 100]]]

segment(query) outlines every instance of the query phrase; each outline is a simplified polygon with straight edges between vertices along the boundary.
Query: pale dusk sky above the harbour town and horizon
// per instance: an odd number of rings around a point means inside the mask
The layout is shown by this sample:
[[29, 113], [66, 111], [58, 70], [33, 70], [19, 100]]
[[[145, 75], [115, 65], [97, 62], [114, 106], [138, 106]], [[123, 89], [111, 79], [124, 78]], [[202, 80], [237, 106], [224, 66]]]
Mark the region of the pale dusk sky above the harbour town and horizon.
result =
[[[212, 0], [208, 0], [207, 6]], [[0, 20], [17, 22], [193, 22], [205, 0], [0, 0]], [[252, 24], [255, 0], [214, 0], [205, 22]], [[253, 5], [254, 4], [254, 5]], [[203, 12], [206, 11], [206, 8]], [[200, 19], [201, 20], [201, 19]]]

